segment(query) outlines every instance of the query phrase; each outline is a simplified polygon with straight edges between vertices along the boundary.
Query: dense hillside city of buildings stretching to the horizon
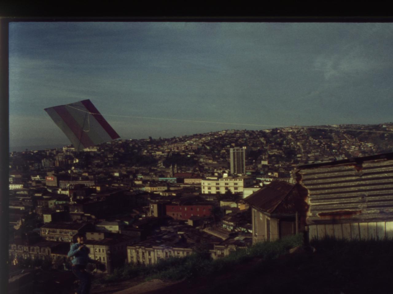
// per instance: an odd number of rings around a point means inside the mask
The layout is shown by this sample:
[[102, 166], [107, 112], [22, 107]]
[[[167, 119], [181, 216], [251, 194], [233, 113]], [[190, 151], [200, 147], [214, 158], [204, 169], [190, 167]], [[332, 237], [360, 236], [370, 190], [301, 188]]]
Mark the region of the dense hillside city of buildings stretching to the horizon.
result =
[[[90, 267], [95, 274], [201, 247], [213, 259], [228, 256], [261, 241], [251, 208], [264, 187], [292, 189], [300, 165], [391, 152], [392, 131], [393, 123], [293, 126], [11, 152], [11, 276], [40, 267], [69, 279], [67, 253], [81, 232], [90, 258], [105, 265]], [[297, 214], [290, 221], [276, 234], [269, 219], [262, 240], [298, 232]]]

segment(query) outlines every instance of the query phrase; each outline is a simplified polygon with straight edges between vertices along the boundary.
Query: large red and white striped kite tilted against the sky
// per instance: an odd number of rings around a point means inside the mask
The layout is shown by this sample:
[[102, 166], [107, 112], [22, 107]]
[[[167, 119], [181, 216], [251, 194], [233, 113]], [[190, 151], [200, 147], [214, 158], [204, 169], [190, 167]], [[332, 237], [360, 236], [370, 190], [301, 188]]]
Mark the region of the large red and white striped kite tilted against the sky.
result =
[[44, 110], [78, 151], [120, 138], [89, 99]]

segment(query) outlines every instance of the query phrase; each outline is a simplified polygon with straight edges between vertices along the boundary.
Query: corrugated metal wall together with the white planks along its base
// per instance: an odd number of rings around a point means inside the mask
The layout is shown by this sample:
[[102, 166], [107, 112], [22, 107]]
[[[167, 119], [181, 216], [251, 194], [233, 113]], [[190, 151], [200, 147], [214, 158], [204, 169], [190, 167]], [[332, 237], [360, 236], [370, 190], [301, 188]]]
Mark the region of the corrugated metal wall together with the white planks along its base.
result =
[[308, 192], [310, 238], [392, 237], [393, 160], [300, 167], [297, 174]]

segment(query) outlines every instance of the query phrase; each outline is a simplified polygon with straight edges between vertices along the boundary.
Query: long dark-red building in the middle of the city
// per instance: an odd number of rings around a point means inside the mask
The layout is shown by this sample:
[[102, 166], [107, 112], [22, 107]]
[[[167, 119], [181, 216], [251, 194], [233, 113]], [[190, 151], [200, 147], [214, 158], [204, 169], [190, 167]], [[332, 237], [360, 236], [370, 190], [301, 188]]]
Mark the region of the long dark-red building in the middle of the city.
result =
[[166, 205], [167, 216], [175, 220], [188, 220], [191, 216], [210, 216], [213, 205], [196, 203], [193, 205]]

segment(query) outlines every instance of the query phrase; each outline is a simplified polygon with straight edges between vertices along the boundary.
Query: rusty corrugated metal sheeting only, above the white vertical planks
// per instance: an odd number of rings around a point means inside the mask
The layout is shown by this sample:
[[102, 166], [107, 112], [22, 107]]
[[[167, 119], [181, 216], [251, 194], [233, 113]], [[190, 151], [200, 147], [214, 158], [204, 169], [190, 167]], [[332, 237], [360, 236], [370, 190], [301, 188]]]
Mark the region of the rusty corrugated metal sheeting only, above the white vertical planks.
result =
[[393, 153], [298, 168], [308, 194], [307, 224], [393, 219]]

